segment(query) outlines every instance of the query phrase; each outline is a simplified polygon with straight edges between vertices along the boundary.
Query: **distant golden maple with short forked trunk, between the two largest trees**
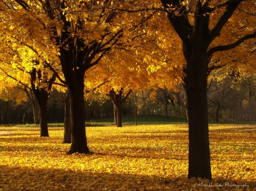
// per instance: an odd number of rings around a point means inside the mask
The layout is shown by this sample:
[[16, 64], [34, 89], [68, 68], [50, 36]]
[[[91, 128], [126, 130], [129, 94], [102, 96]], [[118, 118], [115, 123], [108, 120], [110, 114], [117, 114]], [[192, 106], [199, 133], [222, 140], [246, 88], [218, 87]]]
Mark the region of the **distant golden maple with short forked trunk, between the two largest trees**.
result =
[[[141, 15], [141, 13], [139, 13]], [[164, 39], [159, 36], [164, 14], [151, 15], [150, 23], [143, 22], [139, 28], [143, 29], [137, 37], [139, 44], [124, 46], [114, 50], [102, 59], [97, 66], [86, 71], [85, 86], [109, 96], [114, 104], [115, 125], [121, 127], [121, 105], [132, 91], [150, 90], [158, 87], [175, 87], [180, 83], [184, 59], [179, 54], [179, 46], [167, 44], [175, 40], [175, 35], [165, 32]], [[161, 22], [154, 22], [159, 20]], [[166, 23], [167, 24], [167, 23]], [[158, 31], [152, 31], [158, 28]], [[141, 31], [137, 31], [138, 33]], [[108, 62], [108, 63], [106, 63]], [[95, 78], [96, 74], [98, 75]], [[106, 83], [104, 83], [106, 82]]]

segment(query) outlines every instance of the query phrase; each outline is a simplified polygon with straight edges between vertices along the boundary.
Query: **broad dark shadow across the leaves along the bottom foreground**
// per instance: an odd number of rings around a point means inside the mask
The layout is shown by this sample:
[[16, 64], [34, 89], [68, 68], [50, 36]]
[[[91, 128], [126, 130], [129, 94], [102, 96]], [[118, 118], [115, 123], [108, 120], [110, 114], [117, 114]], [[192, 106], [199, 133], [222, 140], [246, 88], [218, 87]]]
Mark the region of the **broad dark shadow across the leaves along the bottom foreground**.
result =
[[[234, 190], [234, 186], [256, 187], [256, 181], [201, 180], [185, 177], [155, 175], [131, 175], [129, 173], [82, 171], [81, 169], [19, 168], [0, 165], [2, 190], [208, 190], [204, 185], [222, 186]], [[214, 187], [211, 190], [217, 190]]]

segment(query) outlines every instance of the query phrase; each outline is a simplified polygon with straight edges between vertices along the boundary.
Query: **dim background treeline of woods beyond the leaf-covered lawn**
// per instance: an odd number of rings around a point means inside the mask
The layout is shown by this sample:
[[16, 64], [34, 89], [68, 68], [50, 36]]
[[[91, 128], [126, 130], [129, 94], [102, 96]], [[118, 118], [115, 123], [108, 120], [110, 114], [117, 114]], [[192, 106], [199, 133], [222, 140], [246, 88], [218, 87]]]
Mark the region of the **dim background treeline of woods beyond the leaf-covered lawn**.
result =
[[[123, 115], [162, 114], [186, 117], [184, 85], [177, 90], [143, 90], [132, 92], [122, 105]], [[48, 122], [64, 122], [65, 93], [53, 90], [48, 100]], [[29, 101], [0, 99], [0, 124], [33, 124], [34, 116]], [[114, 117], [114, 106], [108, 96], [92, 93], [84, 102], [86, 120]], [[256, 121], [255, 77], [210, 79], [208, 83], [209, 121]]]

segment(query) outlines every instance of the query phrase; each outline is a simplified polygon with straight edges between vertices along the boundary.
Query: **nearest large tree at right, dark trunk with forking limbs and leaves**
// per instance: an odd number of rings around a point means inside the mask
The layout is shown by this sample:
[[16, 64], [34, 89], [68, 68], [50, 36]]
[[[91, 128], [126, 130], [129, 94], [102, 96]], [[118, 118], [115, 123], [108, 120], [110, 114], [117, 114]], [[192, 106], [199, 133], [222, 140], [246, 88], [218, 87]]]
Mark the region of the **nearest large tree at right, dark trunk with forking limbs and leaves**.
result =
[[[243, 0], [218, 2], [161, 0], [161, 2], [168, 10], [168, 20], [182, 40], [183, 54], [187, 62], [184, 67], [186, 73], [184, 82], [189, 120], [188, 178], [212, 179], [207, 75], [216, 66], [210, 66], [208, 63], [213, 59], [214, 53], [234, 49], [247, 39], [255, 38], [255, 15], [250, 15], [251, 10], [255, 11], [255, 3]], [[249, 24], [244, 22], [244, 17], [252, 19]], [[222, 31], [225, 31], [224, 35]], [[227, 39], [221, 42], [218, 37], [221, 35]]]

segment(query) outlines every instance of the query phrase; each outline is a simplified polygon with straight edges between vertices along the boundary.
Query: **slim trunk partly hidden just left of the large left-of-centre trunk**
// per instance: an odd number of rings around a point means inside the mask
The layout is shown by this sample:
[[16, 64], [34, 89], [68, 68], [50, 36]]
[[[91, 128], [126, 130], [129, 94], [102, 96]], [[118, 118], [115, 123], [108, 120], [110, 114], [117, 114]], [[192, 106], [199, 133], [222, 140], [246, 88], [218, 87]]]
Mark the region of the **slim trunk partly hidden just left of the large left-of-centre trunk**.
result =
[[63, 143], [71, 143], [71, 120], [69, 107], [69, 91], [65, 99], [64, 138]]

